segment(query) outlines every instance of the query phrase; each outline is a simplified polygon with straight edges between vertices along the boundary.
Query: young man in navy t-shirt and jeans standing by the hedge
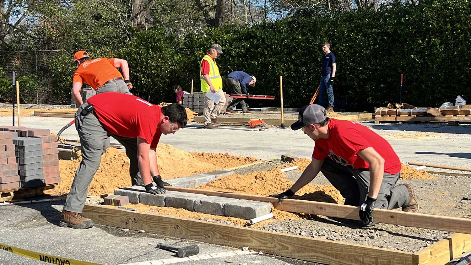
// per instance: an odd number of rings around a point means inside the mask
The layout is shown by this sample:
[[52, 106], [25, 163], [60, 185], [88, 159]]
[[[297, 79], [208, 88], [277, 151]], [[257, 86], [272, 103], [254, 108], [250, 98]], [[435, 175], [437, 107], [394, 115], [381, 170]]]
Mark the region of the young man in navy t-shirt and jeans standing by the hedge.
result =
[[[335, 55], [330, 51], [330, 43], [325, 41], [322, 43], [322, 77], [319, 84], [319, 100], [323, 107], [326, 107], [327, 112], [333, 112], [333, 89], [332, 85], [335, 80], [335, 71], [337, 66], [335, 64]], [[328, 98], [328, 102], [325, 99]]]

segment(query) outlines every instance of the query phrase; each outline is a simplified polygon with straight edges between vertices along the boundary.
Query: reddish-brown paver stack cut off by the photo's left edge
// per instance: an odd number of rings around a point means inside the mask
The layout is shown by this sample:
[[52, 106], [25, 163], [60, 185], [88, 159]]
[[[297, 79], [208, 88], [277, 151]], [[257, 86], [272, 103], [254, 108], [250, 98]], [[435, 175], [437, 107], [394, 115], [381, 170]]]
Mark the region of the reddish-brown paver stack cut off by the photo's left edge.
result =
[[20, 187], [13, 138], [16, 132], [0, 131], [0, 190]]

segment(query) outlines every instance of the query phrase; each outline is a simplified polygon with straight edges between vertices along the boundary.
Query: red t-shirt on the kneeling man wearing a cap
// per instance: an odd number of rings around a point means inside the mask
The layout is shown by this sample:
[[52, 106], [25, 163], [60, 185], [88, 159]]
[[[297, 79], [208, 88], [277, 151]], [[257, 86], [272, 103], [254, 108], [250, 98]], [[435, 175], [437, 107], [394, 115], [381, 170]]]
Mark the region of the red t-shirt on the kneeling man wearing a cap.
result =
[[365, 126], [349, 120], [330, 119], [329, 138], [315, 141], [312, 157], [333, 161], [351, 169], [370, 169], [368, 162], [357, 155], [367, 147], [373, 147], [384, 158], [384, 172], [392, 175], [401, 171], [399, 157], [383, 137]]

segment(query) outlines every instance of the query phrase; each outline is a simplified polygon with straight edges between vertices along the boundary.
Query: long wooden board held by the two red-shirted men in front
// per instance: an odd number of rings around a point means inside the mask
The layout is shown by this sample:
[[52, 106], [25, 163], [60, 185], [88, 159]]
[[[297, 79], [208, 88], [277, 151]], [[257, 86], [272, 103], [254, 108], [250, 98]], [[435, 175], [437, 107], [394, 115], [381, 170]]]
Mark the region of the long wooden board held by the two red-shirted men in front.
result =
[[[179, 191], [188, 193], [199, 193], [209, 196], [228, 197], [243, 200], [252, 201], [265, 201], [271, 202], [274, 207], [278, 210], [294, 212], [294, 213], [306, 213], [323, 215], [328, 217], [340, 217], [351, 220], [359, 220], [358, 207], [327, 203], [320, 201], [304, 201], [304, 200], [293, 200], [286, 199], [283, 203], [278, 204], [276, 198], [244, 194], [244, 193], [227, 193], [217, 192], [204, 189], [191, 189], [191, 188], [180, 188], [180, 187], [165, 187], [169, 191]], [[447, 217], [430, 214], [420, 213], [409, 213], [403, 211], [394, 211], [387, 209], [374, 209], [373, 210], [374, 221], [377, 223], [391, 224], [391, 225], [403, 225], [411, 227], [419, 227], [425, 229], [441, 230], [456, 233], [471, 233], [471, 219], [460, 218], [460, 217]]]

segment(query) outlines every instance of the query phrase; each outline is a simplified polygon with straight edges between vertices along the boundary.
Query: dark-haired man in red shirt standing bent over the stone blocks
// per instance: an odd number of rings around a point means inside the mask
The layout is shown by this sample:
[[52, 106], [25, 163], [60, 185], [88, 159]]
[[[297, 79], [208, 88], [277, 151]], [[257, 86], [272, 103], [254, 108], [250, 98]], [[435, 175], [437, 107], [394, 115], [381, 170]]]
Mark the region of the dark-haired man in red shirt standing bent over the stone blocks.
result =
[[160, 107], [117, 92], [90, 97], [75, 113], [82, 161], [60, 215], [60, 226], [85, 229], [94, 225], [81, 213], [88, 187], [100, 166], [103, 144], [110, 136], [126, 148], [132, 185], [144, 184], [146, 192], [154, 195], [165, 193], [164, 186], [169, 184], [160, 176], [155, 148], [162, 133], [173, 134], [186, 125], [187, 112], [179, 104]]

